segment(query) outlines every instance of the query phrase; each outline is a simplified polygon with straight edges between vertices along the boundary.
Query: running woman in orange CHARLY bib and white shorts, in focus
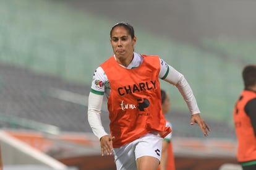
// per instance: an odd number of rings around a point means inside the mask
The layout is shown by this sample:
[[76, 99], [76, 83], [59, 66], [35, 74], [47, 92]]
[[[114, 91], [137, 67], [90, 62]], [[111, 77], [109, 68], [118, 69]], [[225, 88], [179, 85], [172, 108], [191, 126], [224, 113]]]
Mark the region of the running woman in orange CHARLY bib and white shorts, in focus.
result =
[[[94, 72], [88, 122], [100, 140], [101, 155], [114, 153], [117, 169], [156, 170], [163, 137], [171, 132], [161, 111], [159, 79], [179, 89], [191, 114], [190, 124], [197, 123], [205, 136], [210, 128], [200, 117], [184, 76], [158, 56], [135, 53], [136, 40], [129, 23], [119, 22], [111, 28], [114, 55]], [[108, 99], [110, 135], [101, 124], [104, 94]]]

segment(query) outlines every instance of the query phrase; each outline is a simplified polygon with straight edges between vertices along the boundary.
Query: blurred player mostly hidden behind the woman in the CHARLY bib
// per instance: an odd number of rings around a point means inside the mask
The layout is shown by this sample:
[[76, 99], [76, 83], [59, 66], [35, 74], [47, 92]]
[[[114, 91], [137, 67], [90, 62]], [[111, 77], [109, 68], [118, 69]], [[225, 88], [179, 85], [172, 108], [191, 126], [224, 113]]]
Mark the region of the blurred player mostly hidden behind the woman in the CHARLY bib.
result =
[[[168, 114], [171, 107], [171, 102], [168, 93], [166, 93], [166, 91], [164, 90], [161, 90], [161, 103], [163, 114]], [[169, 122], [168, 120], [166, 120], [166, 126], [173, 129], [171, 122]], [[163, 139], [161, 161], [158, 168], [159, 170], [175, 170], [173, 143], [171, 142], [172, 134], [173, 132], [169, 133]]]

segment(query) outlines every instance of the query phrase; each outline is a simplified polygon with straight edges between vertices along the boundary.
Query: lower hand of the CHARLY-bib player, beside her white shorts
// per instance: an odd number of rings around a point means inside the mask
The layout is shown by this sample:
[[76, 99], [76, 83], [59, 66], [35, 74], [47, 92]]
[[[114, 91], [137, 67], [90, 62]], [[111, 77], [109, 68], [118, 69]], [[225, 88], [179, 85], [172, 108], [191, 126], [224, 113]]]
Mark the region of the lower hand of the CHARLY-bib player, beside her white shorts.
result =
[[104, 153], [106, 153], [106, 155], [112, 155], [113, 140], [114, 140], [114, 137], [111, 137], [111, 135], [105, 135], [100, 138], [101, 156], [104, 156]]

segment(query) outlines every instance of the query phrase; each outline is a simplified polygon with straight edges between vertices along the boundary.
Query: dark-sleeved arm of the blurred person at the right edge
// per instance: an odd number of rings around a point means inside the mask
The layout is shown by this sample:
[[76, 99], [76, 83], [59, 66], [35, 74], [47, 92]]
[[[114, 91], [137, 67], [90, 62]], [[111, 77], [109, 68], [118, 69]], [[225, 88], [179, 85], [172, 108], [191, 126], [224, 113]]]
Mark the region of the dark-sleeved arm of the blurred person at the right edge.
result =
[[250, 100], [245, 105], [245, 113], [250, 117], [250, 122], [252, 122], [252, 127], [254, 128], [254, 135], [256, 137], [256, 98]]

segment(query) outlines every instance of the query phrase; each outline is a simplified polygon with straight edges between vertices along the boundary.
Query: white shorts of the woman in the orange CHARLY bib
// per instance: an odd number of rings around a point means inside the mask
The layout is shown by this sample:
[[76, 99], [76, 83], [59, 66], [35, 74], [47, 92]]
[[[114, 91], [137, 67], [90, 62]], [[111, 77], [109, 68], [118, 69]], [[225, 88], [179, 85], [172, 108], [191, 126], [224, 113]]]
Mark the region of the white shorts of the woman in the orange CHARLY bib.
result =
[[114, 148], [114, 161], [117, 170], [137, 169], [136, 161], [142, 156], [161, 159], [163, 138], [157, 133], [150, 133], [120, 148]]

